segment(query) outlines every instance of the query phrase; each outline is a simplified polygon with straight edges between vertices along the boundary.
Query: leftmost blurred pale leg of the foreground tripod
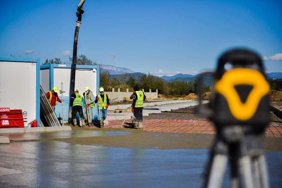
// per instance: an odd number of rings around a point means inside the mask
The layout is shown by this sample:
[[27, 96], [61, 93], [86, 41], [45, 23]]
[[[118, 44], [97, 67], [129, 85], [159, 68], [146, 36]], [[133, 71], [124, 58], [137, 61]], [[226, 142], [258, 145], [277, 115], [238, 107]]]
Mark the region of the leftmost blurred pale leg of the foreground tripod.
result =
[[227, 155], [216, 154], [213, 156], [208, 177], [206, 188], [219, 188], [221, 187], [224, 172], [227, 163]]

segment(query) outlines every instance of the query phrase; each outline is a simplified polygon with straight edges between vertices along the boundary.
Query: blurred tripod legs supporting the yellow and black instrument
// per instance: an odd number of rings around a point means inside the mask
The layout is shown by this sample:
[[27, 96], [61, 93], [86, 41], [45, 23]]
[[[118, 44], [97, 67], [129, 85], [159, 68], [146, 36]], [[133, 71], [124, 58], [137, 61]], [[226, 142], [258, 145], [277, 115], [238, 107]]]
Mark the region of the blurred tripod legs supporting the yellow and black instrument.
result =
[[246, 131], [243, 126], [229, 126], [217, 130], [217, 133], [204, 172], [203, 187], [221, 187], [229, 157], [233, 188], [268, 188], [263, 131]]

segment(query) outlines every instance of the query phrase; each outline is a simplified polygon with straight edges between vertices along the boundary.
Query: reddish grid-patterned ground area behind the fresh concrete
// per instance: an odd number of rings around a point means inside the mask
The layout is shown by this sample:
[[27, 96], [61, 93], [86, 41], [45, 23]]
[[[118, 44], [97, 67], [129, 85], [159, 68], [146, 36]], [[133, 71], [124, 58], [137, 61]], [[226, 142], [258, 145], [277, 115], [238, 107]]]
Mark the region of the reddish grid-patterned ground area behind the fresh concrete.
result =
[[[104, 128], [120, 128], [123, 120], [111, 120]], [[132, 120], [126, 120], [124, 127], [129, 128]], [[271, 113], [271, 122], [265, 136], [282, 137], [282, 120]], [[90, 126], [88, 128], [97, 128]], [[213, 123], [199, 115], [195, 107], [150, 114], [143, 117], [143, 130], [170, 133], [206, 133], [215, 134]]]

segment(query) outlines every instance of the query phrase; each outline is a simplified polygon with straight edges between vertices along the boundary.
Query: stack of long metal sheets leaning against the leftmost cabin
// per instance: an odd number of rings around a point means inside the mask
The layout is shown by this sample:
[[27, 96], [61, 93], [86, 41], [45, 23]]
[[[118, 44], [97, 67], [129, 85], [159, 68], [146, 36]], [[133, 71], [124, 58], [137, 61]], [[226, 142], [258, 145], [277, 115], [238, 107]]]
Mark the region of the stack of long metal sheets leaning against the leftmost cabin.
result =
[[53, 111], [45, 92], [40, 86], [40, 125], [44, 127], [59, 127], [61, 123]]

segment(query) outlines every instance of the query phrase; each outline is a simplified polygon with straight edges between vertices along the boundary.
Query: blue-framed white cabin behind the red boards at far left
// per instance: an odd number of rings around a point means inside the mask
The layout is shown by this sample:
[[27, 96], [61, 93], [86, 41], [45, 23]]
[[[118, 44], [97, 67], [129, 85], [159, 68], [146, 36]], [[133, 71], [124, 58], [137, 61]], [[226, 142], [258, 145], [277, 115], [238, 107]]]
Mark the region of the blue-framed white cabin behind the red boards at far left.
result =
[[26, 112], [24, 126], [40, 124], [40, 59], [0, 57], [0, 108]]

